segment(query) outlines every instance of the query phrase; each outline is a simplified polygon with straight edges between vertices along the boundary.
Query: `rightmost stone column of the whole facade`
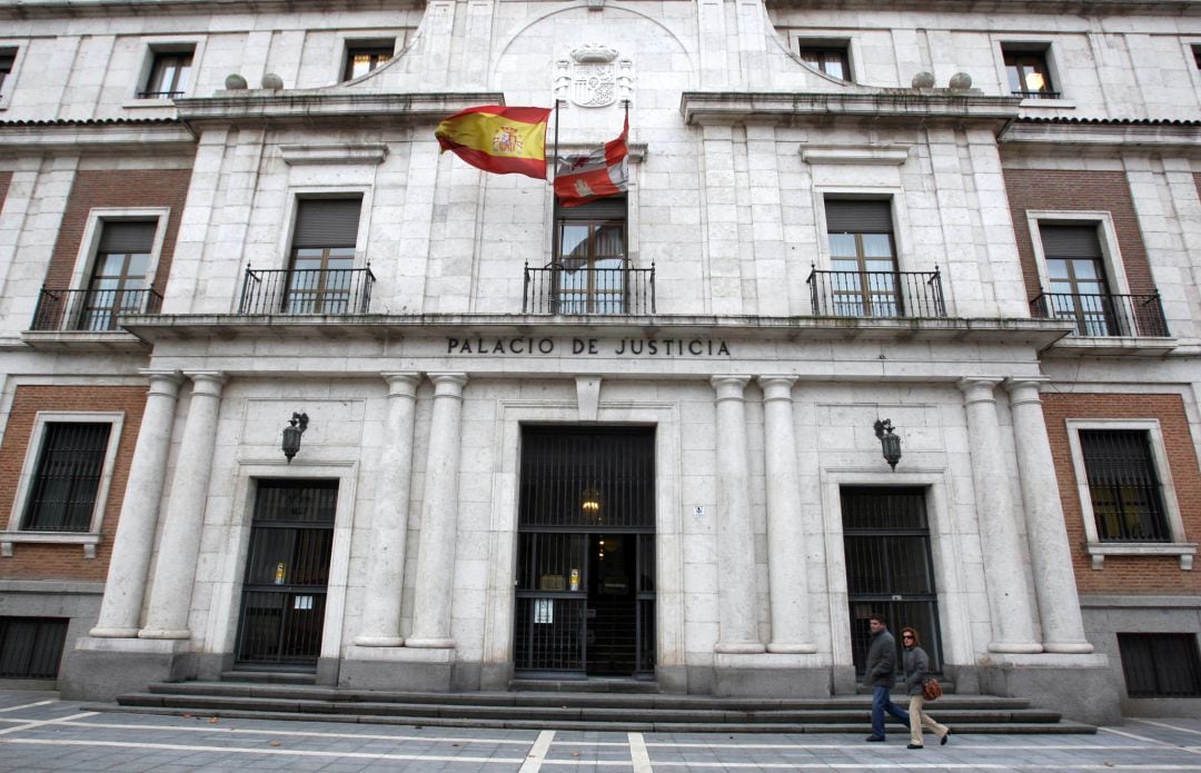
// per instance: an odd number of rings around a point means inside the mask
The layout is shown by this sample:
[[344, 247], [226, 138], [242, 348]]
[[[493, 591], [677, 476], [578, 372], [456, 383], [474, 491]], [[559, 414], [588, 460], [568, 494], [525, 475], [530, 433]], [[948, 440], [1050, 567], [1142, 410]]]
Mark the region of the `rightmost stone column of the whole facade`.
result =
[[1046, 418], [1039, 399], [1045, 378], [1010, 378], [1009, 407], [1014, 417], [1014, 444], [1022, 481], [1026, 510], [1026, 539], [1034, 570], [1034, 593], [1042, 623], [1044, 652], [1088, 653], [1093, 646], [1085, 636], [1080, 613], [1071, 549], [1064, 529], [1059, 484], [1047, 439]]

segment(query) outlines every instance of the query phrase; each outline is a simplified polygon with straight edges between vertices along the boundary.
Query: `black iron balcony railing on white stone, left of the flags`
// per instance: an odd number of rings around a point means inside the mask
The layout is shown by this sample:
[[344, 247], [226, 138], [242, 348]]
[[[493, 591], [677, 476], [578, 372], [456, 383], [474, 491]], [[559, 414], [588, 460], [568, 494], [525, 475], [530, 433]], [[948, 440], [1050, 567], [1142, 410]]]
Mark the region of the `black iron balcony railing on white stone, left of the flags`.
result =
[[365, 269], [246, 268], [240, 314], [365, 314], [375, 274]]

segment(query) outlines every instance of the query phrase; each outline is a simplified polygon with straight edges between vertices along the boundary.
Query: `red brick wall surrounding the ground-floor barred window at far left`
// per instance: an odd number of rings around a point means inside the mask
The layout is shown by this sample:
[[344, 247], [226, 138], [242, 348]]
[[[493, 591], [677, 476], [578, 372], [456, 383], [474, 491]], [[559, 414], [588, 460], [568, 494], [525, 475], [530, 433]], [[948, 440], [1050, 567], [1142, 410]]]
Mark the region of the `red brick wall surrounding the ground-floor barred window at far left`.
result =
[[[0, 523], [7, 523], [20, 471], [29, 449], [30, 432], [38, 411], [123, 412], [125, 421], [116, 447], [113, 480], [104, 504], [96, 557], [83, 557], [82, 545], [37, 545], [16, 543], [12, 558], [0, 558], [0, 577], [22, 580], [98, 580], [108, 575], [113, 535], [121, 513], [121, 498], [133, 459], [133, 445], [145, 407], [145, 386], [18, 386], [0, 444]], [[19, 519], [19, 515], [17, 516]]]

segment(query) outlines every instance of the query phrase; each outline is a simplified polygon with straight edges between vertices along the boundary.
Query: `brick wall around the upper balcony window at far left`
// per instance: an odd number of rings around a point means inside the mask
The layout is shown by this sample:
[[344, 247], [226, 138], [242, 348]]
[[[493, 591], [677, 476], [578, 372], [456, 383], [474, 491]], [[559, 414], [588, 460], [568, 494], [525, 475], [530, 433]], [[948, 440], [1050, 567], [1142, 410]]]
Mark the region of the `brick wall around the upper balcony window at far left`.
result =
[[47, 287], [70, 287], [79, 244], [95, 206], [169, 206], [171, 217], [163, 236], [162, 254], [155, 272], [154, 289], [162, 293], [175, 252], [179, 217], [184, 211], [191, 169], [91, 169], [76, 175], [67, 200], [59, 238], [54, 242]]

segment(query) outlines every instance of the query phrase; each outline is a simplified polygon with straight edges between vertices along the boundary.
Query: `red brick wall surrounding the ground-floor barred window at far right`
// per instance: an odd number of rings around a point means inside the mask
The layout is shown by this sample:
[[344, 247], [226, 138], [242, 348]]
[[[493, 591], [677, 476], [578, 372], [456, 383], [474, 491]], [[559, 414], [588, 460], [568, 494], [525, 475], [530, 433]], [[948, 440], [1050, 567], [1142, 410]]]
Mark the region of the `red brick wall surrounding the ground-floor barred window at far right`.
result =
[[1083, 515], [1068, 447], [1068, 419], [1158, 419], [1184, 521], [1184, 539], [1201, 541], [1201, 471], [1179, 395], [1044, 394], [1042, 411], [1080, 592], [1201, 593], [1201, 559], [1193, 571], [1181, 571], [1176, 556], [1106, 556], [1104, 569], [1092, 568], [1085, 551]]

